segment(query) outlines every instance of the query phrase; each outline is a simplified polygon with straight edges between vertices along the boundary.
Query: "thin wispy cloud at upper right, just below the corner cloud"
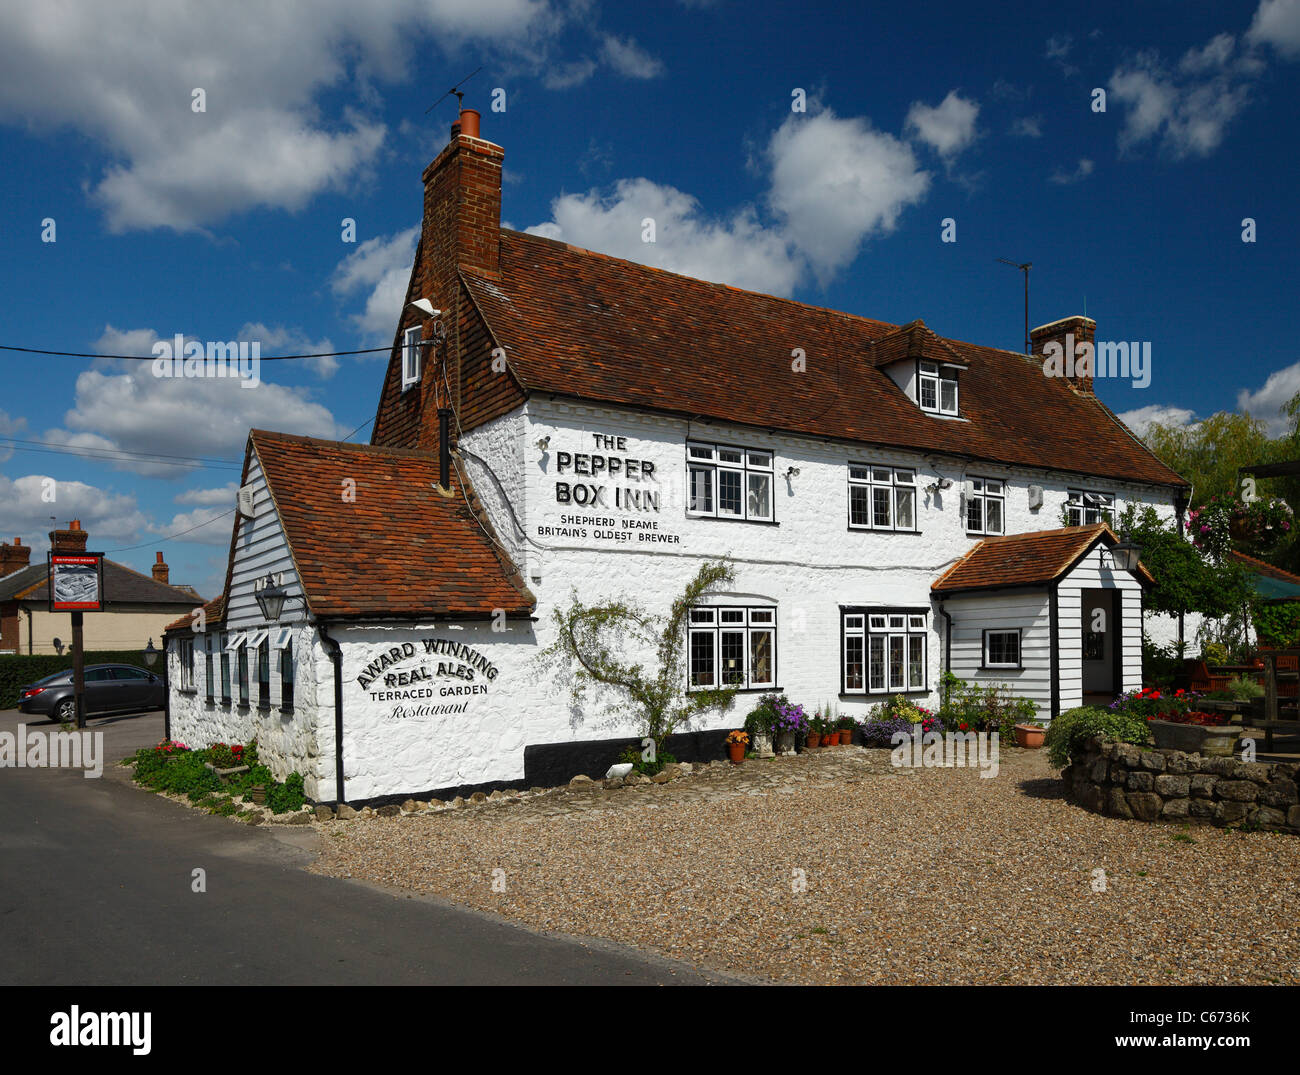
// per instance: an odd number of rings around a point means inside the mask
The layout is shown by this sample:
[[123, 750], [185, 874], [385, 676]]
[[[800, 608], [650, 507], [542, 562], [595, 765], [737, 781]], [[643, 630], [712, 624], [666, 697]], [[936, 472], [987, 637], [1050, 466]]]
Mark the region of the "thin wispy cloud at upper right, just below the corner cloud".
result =
[[1214, 152], [1245, 108], [1261, 70], [1252, 56], [1234, 60], [1234, 38], [1219, 34], [1204, 48], [1190, 49], [1176, 73], [1152, 52], [1115, 69], [1110, 97], [1127, 108], [1119, 148], [1158, 140], [1175, 160]]

